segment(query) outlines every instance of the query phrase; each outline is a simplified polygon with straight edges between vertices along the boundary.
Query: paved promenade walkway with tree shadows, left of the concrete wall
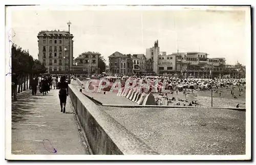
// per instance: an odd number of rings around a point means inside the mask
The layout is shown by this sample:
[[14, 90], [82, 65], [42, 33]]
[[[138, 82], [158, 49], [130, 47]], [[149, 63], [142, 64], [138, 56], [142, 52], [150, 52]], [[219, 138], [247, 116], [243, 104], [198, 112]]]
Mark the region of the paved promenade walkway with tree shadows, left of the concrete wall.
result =
[[69, 97], [66, 113], [60, 112], [56, 89], [46, 96], [32, 96], [27, 90], [17, 99], [12, 100], [12, 154], [89, 154]]

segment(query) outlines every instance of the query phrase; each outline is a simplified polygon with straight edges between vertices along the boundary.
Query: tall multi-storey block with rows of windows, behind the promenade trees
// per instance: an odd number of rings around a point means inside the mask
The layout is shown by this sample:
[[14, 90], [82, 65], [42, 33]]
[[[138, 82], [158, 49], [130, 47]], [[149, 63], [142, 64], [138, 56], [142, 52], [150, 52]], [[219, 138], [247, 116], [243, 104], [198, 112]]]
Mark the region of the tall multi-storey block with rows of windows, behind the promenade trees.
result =
[[[69, 31], [40, 31], [38, 60], [45, 64], [48, 73], [65, 73], [73, 64], [73, 34]], [[70, 46], [69, 46], [70, 42]], [[70, 58], [69, 58], [70, 51]]]

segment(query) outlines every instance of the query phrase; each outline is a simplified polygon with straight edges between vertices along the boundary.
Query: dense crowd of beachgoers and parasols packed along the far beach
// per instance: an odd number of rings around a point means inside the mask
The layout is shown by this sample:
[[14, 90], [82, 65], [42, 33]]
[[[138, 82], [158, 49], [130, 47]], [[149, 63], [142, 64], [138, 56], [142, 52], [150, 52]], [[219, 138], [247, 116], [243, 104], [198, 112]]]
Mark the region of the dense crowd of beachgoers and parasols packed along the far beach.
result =
[[[211, 91], [214, 93], [218, 93], [218, 96], [222, 96], [222, 88], [226, 88], [231, 91], [231, 97], [233, 99], [237, 99], [238, 97], [243, 96], [243, 89], [245, 89], [245, 79], [198, 79], [198, 78], [189, 78], [189, 79], [182, 79], [182, 78], [176, 78], [176, 77], [167, 77], [167, 76], [122, 76], [122, 77], [105, 77], [105, 79], [110, 80], [110, 82], [115, 82], [115, 80], [120, 79], [121, 85], [124, 87], [126, 81], [130, 81], [129, 85], [133, 85], [133, 81], [137, 82], [137, 84], [134, 86], [136, 87], [137, 91], [143, 91], [146, 93], [149, 92], [155, 92], [158, 96], [162, 96], [164, 98], [167, 105], [174, 103], [176, 101], [175, 105], [183, 105], [183, 106], [200, 106], [196, 100], [190, 100], [187, 99], [187, 94], [193, 94], [196, 91]], [[142, 84], [148, 84], [147, 90], [145, 90], [145, 86], [141, 85], [140, 82], [142, 81]], [[148, 83], [150, 82], [150, 83]], [[212, 86], [212, 87], [211, 87]], [[234, 87], [238, 87], [238, 89], [235, 89]], [[139, 88], [139, 89], [138, 89]], [[164, 92], [162, 92], [162, 89], [165, 89]], [[167, 92], [166, 92], [167, 90]], [[234, 94], [234, 90], [239, 90], [239, 93], [236, 92]], [[182, 92], [182, 98], [179, 98], [178, 93]], [[177, 97], [171, 97], [168, 98], [167, 93], [174, 94], [176, 93]], [[183, 103], [182, 103], [183, 102]], [[182, 104], [181, 104], [182, 103]], [[155, 98], [155, 104], [156, 105], [163, 105], [163, 100], [160, 98]], [[236, 106], [239, 107], [239, 104]]]

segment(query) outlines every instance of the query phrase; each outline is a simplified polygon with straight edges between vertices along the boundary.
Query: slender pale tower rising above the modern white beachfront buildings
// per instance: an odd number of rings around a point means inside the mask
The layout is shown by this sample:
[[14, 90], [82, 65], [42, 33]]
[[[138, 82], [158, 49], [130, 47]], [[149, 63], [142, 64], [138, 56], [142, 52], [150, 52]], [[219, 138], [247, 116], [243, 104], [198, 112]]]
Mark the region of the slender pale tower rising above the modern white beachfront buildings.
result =
[[153, 60], [153, 72], [157, 74], [158, 74], [158, 56], [159, 56], [159, 46], [158, 46], [158, 40], [156, 40], [152, 48], [146, 49], [146, 58]]

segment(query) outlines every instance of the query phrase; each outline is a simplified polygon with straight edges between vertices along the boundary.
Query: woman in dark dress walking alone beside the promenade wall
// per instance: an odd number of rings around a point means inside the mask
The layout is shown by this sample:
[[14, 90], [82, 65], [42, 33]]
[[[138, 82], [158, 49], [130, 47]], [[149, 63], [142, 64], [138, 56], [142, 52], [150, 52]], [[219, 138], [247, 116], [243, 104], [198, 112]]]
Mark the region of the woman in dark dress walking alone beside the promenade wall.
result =
[[[60, 112], [63, 111], [63, 113], [66, 112], [66, 102], [67, 102], [67, 96], [69, 96], [69, 85], [66, 82], [66, 76], [62, 76], [60, 78], [60, 82], [57, 84], [57, 88], [59, 89], [59, 102], [60, 102]], [[63, 107], [64, 106], [64, 107]], [[62, 110], [63, 107], [63, 110]]]

